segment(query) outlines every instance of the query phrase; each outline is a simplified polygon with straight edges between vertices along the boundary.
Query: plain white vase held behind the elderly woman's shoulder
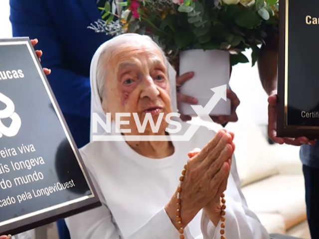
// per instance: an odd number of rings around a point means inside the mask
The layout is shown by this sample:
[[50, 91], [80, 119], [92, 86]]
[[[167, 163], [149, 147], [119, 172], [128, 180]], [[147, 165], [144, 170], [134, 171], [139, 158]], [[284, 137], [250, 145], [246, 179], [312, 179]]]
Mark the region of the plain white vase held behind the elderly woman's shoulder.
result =
[[[214, 92], [211, 88], [227, 85], [229, 88], [230, 61], [229, 52], [222, 50], [187, 50], [180, 53], [179, 75], [194, 72], [194, 77], [185, 82], [180, 93], [198, 100], [197, 105], [205, 107]], [[180, 103], [179, 113], [197, 116], [189, 104]], [[220, 99], [210, 113], [211, 116], [230, 115], [230, 101]]]

